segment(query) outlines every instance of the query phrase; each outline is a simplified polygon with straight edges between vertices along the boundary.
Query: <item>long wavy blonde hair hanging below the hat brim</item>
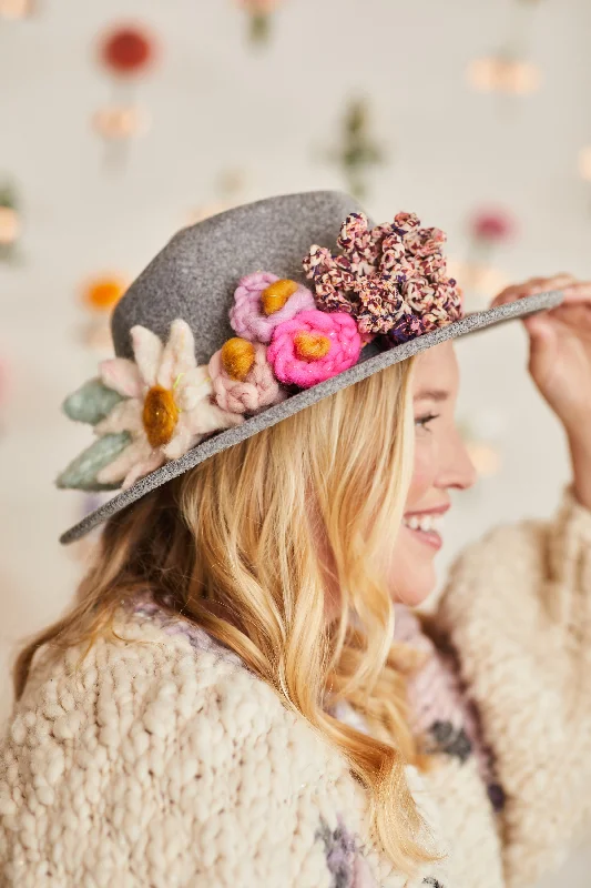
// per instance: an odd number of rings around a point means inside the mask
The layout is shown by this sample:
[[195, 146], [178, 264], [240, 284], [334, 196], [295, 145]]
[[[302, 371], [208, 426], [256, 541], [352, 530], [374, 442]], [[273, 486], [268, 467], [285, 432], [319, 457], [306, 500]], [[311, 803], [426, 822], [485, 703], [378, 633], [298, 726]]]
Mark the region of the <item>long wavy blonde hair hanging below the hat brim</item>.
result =
[[[343, 389], [112, 517], [74, 606], [20, 653], [17, 698], [41, 645], [88, 649], [114, 632], [121, 601], [150, 587], [346, 756], [397, 868], [432, 860], [405, 779], [405, 765], [421, 759], [385, 572], [412, 467], [410, 370]], [[328, 586], [338, 589], [334, 620]], [[365, 716], [371, 736], [327, 712], [337, 700]]]

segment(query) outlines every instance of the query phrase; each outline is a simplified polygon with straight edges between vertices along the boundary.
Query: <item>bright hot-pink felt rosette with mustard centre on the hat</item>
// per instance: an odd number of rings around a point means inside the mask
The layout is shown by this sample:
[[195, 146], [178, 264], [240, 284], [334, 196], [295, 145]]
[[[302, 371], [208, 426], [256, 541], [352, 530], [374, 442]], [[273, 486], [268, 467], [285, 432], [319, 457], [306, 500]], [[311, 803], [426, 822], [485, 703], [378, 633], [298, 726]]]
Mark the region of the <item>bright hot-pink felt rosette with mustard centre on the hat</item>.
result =
[[275, 327], [267, 360], [281, 382], [308, 389], [356, 364], [360, 351], [349, 314], [313, 309]]

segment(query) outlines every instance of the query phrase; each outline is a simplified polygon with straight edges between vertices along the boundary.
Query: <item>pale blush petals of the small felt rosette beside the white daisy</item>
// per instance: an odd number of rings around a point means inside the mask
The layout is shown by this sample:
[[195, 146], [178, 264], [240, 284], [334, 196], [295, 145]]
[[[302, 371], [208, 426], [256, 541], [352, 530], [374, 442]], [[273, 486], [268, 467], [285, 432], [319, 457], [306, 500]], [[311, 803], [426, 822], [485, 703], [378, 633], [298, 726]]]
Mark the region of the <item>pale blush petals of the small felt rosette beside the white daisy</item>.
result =
[[233, 379], [224, 367], [222, 349], [210, 361], [210, 377], [218, 407], [230, 413], [256, 413], [263, 407], [278, 404], [287, 397], [273, 375], [267, 361], [267, 349], [254, 345], [254, 364], [244, 380]]

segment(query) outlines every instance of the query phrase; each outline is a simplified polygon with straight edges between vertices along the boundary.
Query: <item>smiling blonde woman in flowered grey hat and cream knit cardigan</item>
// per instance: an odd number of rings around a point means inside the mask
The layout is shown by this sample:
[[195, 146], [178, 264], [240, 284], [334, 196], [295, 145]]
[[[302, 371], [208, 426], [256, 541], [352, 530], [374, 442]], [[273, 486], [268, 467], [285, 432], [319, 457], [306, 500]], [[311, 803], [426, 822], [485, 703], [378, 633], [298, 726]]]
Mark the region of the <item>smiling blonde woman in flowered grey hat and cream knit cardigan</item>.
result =
[[[60, 486], [123, 490], [62, 537], [109, 518], [16, 663], [3, 884], [501, 888], [583, 824], [591, 287], [536, 279], [462, 319], [442, 234], [353, 205], [176, 235], [67, 401], [98, 441]], [[427, 632], [438, 519], [475, 481], [451, 339], [511, 316], [573, 484], [458, 559]]]

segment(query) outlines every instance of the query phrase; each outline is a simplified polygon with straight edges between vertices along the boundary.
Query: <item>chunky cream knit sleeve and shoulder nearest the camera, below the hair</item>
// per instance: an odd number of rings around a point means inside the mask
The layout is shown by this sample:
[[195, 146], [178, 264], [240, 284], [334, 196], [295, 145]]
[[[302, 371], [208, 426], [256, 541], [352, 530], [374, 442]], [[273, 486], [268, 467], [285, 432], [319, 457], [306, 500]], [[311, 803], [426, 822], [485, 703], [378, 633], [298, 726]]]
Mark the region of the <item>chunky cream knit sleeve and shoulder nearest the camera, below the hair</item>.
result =
[[406, 884], [364, 839], [344, 759], [236, 657], [150, 620], [116, 630], [82, 665], [39, 666], [14, 709], [0, 885]]

